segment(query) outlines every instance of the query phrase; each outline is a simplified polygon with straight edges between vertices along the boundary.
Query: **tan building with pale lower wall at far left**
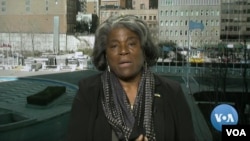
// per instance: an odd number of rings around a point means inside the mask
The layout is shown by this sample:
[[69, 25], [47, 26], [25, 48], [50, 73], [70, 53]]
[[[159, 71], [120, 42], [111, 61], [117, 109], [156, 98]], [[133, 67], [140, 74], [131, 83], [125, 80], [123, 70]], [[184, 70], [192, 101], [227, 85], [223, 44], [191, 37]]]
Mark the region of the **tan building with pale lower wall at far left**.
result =
[[77, 0], [0, 0], [0, 43], [14, 50], [67, 50]]

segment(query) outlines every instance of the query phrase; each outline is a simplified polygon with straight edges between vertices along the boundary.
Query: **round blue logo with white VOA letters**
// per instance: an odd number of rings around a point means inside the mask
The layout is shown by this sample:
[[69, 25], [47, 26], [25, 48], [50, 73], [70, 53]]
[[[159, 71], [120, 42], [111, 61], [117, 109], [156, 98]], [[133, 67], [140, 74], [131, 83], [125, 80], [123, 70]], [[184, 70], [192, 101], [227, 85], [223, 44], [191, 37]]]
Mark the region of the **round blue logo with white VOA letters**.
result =
[[213, 127], [221, 131], [222, 125], [236, 125], [238, 123], [238, 113], [233, 106], [220, 104], [213, 109], [210, 119]]

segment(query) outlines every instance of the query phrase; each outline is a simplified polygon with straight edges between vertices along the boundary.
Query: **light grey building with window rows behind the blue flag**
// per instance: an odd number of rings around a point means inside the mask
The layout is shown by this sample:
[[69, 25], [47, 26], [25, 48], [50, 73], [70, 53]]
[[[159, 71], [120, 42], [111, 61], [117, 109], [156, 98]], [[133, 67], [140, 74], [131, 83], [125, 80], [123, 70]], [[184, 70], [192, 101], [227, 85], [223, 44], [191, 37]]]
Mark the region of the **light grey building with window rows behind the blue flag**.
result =
[[[159, 0], [159, 41], [180, 47], [203, 47], [220, 42], [219, 0]], [[204, 25], [204, 30], [189, 30], [189, 22]]]

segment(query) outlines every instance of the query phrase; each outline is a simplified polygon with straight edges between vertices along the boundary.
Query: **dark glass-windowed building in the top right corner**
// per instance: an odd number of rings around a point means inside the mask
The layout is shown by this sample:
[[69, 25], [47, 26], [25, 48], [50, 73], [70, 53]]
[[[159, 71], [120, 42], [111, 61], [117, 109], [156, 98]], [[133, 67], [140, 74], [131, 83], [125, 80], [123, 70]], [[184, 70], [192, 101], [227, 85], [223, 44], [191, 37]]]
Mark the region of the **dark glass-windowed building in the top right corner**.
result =
[[250, 1], [221, 0], [221, 35], [225, 43], [250, 40]]

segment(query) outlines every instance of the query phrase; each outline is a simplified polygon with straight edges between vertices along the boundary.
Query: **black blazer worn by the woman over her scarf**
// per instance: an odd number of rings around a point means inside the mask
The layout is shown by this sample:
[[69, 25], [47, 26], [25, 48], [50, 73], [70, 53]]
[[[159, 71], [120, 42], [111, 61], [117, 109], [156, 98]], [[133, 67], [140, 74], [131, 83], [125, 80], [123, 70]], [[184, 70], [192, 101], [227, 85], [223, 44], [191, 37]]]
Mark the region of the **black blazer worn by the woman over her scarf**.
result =
[[[79, 82], [69, 123], [68, 141], [111, 141], [104, 115], [101, 74]], [[194, 141], [191, 112], [179, 83], [155, 75], [154, 125], [157, 141]]]

